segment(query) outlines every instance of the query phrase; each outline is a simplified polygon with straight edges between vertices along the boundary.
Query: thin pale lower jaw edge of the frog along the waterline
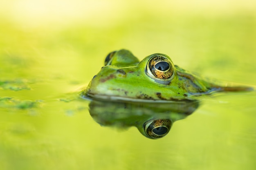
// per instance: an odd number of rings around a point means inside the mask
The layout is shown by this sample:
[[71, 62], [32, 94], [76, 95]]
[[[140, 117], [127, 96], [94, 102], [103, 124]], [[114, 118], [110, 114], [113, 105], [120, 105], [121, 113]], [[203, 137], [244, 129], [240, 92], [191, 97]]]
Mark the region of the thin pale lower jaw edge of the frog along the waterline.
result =
[[137, 99], [130, 97], [121, 96], [109, 96], [109, 95], [95, 95], [92, 93], [82, 93], [81, 95], [84, 99], [90, 100], [103, 100], [103, 101], [113, 101], [113, 102], [142, 102], [142, 103], [188, 103], [188, 102], [198, 102], [196, 99], [180, 99], [180, 100], [157, 100], [157, 99]]

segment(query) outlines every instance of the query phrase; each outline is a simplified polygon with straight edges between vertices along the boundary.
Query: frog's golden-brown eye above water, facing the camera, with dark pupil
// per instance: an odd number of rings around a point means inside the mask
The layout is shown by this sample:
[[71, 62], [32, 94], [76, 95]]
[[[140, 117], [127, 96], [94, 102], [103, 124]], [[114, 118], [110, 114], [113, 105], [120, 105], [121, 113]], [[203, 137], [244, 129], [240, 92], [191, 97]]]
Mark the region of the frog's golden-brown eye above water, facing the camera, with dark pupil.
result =
[[161, 84], [168, 84], [174, 77], [174, 66], [164, 55], [153, 55], [147, 64], [147, 74]]

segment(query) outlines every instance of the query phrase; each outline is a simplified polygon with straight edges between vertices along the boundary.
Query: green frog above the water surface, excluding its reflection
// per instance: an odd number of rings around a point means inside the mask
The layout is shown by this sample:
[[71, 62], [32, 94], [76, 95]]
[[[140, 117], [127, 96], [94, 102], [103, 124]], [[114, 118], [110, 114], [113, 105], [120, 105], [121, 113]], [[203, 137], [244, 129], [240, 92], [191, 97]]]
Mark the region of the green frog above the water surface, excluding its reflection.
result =
[[110, 52], [82, 96], [132, 102], [189, 102], [216, 92], [252, 91], [225, 86], [174, 65], [168, 55], [154, 53], [139, 61], [126, 49]]

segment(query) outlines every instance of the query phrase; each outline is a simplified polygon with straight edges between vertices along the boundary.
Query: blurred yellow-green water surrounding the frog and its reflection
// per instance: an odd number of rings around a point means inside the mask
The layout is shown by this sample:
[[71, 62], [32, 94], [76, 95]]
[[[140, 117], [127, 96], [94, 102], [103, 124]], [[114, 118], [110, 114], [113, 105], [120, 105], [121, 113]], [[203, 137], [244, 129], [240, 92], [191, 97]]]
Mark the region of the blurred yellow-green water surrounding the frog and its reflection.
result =
[[256, 168], [255, 92], [206, 98], [158, 140], [94, 122], [77, 89], [123, 48], [255, 86], [256, 1], [0, 2], [0, 169]]

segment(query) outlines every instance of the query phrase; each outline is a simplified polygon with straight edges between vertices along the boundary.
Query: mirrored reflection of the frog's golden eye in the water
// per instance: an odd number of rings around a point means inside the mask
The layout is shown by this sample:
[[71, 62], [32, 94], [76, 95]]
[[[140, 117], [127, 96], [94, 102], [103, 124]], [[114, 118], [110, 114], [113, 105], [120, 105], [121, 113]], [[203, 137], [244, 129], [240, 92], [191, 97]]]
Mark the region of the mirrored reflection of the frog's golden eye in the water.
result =
[[157, 139], [164, 137], [170, 130], [172, 121], [169, 119], [157, 119], [149, 121], [144, 125], [144, 130], [148, 137]]

